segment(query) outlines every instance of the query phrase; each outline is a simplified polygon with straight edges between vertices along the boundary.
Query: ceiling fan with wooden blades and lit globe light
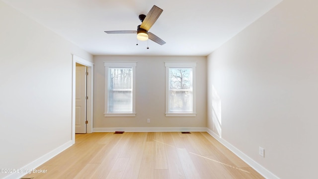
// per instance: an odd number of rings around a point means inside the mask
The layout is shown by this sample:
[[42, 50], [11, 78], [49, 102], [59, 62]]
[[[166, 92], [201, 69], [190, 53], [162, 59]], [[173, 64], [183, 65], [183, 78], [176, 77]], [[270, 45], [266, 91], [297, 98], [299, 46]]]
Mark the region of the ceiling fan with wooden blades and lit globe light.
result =
[[137, 26], [137, 30], [115, 30], [115, 31], [104, 31], [108, 34], [122, 34], [122, 33], [137, 33], [138, 40], [152, 40], [159, 45], [165, 44], [165, 41], [160, 39], [155, 34], [149, 32], [149, 29], [154, 25], [154, 23], [159, 18], [163, 10], [156, 5], [154, 5], [147, 15], [140, 14], [139, 19], [142, 22], [141, 25]]

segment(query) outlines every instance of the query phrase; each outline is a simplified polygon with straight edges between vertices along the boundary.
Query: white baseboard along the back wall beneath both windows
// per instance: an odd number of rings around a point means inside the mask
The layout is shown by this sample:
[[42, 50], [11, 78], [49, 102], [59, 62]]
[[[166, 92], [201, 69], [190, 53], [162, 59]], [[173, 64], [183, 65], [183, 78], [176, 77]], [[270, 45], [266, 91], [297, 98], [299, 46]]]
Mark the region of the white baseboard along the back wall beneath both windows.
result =
[[206, 127], [114, 127], [93, 128], [93, 132], [206, 132]]

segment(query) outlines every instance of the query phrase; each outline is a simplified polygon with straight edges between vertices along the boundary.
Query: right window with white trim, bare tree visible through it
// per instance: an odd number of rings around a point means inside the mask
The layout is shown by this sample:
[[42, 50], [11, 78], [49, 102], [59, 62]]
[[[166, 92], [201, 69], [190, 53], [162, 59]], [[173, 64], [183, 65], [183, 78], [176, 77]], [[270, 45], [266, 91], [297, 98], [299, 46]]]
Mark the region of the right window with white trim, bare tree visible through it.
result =
[[195, 62], [165, 62], [166, 116], [196, 116]]

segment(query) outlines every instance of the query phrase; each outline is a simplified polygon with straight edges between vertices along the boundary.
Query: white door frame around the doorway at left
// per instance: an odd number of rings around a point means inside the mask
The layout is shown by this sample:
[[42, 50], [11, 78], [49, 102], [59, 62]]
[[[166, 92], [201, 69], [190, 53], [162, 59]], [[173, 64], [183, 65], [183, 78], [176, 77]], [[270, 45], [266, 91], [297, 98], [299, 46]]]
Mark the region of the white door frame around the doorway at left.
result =
[[84, 65], [87, 67], [87, 107], [86, 107], [86, 133], [92, 133], [93, 132], [93, 82], [94, 82], [94, 64], [92, 62], [89, 62], [87, 60], [84, 60], [80, 58], [79, 56], [76, 56], [72, 54], [72, 143], [75, 144], [75, 94], [76, 94], [76, 63], [79, 63], [81, 65]]

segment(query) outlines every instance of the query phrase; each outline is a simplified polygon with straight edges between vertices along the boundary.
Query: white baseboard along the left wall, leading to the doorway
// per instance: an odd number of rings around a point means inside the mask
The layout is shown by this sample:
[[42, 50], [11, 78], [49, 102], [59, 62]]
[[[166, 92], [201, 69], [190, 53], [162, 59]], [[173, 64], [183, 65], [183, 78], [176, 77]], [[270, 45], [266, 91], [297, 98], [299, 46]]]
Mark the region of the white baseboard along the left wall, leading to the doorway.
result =
[[[47, 162], [48, 160], [52, 159], [53, 157], [55, 157], [56, 155], [60, 154], [61, 152], [63, 152], [64, 150], [66, 150], [67, 148], [71, 147], [73, 145], [73, 141], [69, 141], [65, 144], [63, 144], [62, 146], [54, 149], [53, 151], [45, 154], [44, 156], [36, 159], [35, 161], [31, 162], [30, 164], [21, 167], [19, 170], [21, 171], [32, 171], [33, 169], [36, 169], [37, 167], [39, 167], [40, 165], [44, 164], [45, 162]], [[4, 177], [3, 179], [20, 179], [21, 177], [25, 176], [28, 173], [14, 173], [11, 175], [8, 175], [6, 177]]]

